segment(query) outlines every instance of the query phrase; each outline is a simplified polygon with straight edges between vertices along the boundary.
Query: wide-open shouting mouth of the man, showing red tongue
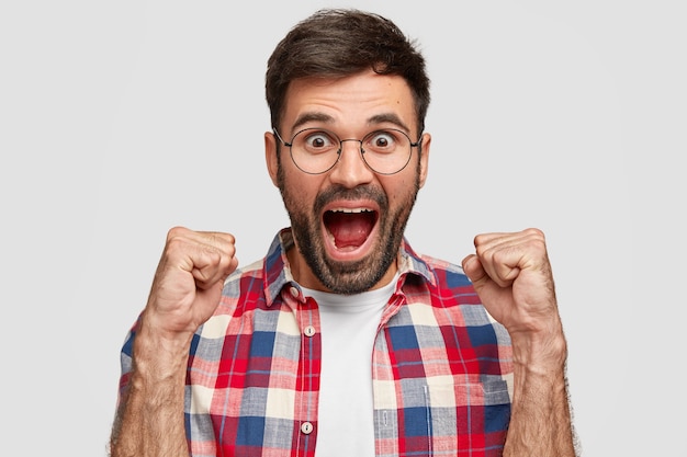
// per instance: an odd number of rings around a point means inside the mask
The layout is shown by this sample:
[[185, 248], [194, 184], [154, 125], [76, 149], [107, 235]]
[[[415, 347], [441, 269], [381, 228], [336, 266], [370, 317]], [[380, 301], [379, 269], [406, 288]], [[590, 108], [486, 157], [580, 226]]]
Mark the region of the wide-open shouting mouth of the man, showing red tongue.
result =
[[354, 251], [365, 243], [378, 218], [378, 212], [372, 209], [341, 208], [325, 212], [323, 221], [337, 250]]

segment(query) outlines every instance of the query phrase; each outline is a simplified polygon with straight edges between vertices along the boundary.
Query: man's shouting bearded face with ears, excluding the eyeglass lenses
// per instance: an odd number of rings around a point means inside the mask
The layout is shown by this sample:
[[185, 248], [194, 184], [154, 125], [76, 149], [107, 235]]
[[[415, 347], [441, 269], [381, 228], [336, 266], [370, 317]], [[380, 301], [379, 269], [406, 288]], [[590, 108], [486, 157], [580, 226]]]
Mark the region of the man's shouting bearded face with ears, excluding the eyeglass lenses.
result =
[[[372, 71], [338, 80], [303, 79], [291, 83], [279, 134], [289, 141], [304, 128], [324, 128], [339, 138], [360, 139], [380, 128], [396, 128], [417, 141], [413, 95], [405, 80]], [[358, 141], [345, 141], [337, 164], [307, 174], [291, 160], [289, 148], [266, 134], [268, 169], [291, 217], [296, 250], [289, 252], [294, 278], [305, 287], [356, 294], [387, 284], [396, 254], [427, 175], [429, 135], [421, 150], [398, 173], [370, 170]]]

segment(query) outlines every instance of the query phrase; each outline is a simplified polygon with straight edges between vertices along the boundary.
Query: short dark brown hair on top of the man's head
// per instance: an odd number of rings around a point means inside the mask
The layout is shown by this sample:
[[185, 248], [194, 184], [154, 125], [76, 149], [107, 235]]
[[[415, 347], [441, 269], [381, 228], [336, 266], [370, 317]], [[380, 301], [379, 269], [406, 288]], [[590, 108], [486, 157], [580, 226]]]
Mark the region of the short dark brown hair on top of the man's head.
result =
[[344, 78], [372, 69], [403, 77], [415, 96], [418, 135], [429, 106], [425, 58], [390, 20], [356, 9], [322, 9], [296, 24], [277, 45], [266, 75], [266, 98], [278, 128], [291, 81]]

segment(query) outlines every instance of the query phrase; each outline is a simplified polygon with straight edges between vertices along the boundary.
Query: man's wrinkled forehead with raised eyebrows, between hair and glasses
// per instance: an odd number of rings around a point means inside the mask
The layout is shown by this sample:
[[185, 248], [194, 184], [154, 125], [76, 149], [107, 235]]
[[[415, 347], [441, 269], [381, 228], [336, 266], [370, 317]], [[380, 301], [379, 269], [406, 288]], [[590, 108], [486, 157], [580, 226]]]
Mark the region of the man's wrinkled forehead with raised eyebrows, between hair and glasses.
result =
[[357, 130], [395, 124], [404, 130], [416, 126], [413, 92], [399, 76], [365, 71], [346, 78], [303, 78], [286, 91], [282, 119], [285, 130], [312, 124]]

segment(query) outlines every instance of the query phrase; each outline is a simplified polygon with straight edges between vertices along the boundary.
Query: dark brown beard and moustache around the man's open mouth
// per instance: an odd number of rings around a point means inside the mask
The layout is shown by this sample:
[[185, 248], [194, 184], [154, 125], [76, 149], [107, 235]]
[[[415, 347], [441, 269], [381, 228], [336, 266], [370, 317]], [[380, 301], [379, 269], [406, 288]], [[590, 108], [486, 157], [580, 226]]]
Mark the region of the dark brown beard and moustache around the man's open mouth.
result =
[[[296, 190], [284, 185], [283, 169], [278, 173], [279, 190], [291, 219], [291, 230], [296, 248], [307, 266], [319, 282], [336, 294], [352, 295], [370, 290], [375, 286], [396, 261], [405, 227], [419, 191], [419, 171], [415, 185], [406, 198], [390, 208], [386, 194], [374, 186], [365, 185], [346, 188], [340, 185], [320, 192], [312, 208], [297, 198]], [[322, 230], [322, 210], [334, 199], [370, 198], [380, 208], [378, 240], [370, 254], [354, 262], [340, 262], [330, 259], [325, 249]]]

